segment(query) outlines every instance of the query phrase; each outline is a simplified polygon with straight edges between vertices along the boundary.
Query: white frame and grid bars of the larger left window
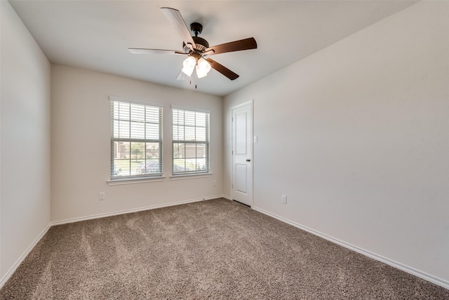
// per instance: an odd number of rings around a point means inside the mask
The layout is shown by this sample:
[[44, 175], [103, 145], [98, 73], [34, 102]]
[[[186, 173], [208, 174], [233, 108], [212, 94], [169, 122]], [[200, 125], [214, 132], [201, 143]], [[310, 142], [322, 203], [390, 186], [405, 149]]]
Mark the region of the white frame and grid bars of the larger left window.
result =
[[[148, 180], [148, 179], [161, 179], [163, 178], [163, 130], [162, 130], [162, 126], [163, 126], [163, 104], [161, 103], [153, 103], [153, 102], [149, 102], [149, 101], [143, 101], [143, 100], [137, 100], [137, 99], [131, 99], [131, 98], [123, 98], [123, 97], [117, 97], [117, 96], [109, 96], [109, 100], [110, 100], [110, 105], [111, 105], [111, 136], [110, 136], [110, 150], [111, 150], [111, 157], [110, 157], [110, 172], [109, 172], [109, 178], [110, 178], [110, 182], [127, 182], [127, 181], [142, 181], [142, 180]], [[123, 138], [123, 137], [114, 137], [114, 122], [119, 121], [119, 118], [114, 118], [114, 103], [128, 103], [130, 105], [129, 108], [129, 113], [131, 114], [131, 105], [144, 105], [143, 111], [145, 114], [145, 119], [144, 119], [144, 138]], [[154, 123], [154, 122], [148, 122], [147, 120], [147, 107], [152, 107], [152, 109], [157, 108], [159, 110], [158, 115], [159, 115], [159, 123]], [[130, 126], [129, 126], [129, 131], [130, 131], [130, 136], [132, 133], [132, 126], [131, 124], [133, 121], [131, 117], [128, 117], [128, 119], [123, 119], [122, 121], [128, 121], [130, 122]], [[159, 139], [154, 139], [154, 138], [147, 138], [146, 133], [147, 133], [147, 124], [159, 124], [159, 128], [157, 132], [159, 134]], [[114, 176], [114, 174], [116, 174], [116, 168], [115, 168], [115, 162], [116, 162], [116, 157], [115, 157], [115, 143], [116, 142], [125, 142], [125, 143], [157, 143], [159, 145], [159, 151], [158, 151], [158, 158], [157, 158], [157, 162], [159, 163], [159, 171], [156, 171], [154, 173], [150, 172], [150, 173], [146, 173], [146, 174], [131, 174], [131, 167], [130, 167], [130, 175], [123, 175], [123, 176]], [[131, 145], [130, 144], [130, 151], [131, 151]], [[145, 147], [144, 150], [144, 158], [143, 158], [143, 162], [145, 162], [145, 167], [147, 166], [147, 155], [146, 155], [146, 151], [147, 148]], [[130, 161], [130, 166], [133, 160], [133, 157], [131, 157], [131, 153], [129, 154], [129, 161]], [[151, 159], [151, 160], [155, 160], [155, 159]]]

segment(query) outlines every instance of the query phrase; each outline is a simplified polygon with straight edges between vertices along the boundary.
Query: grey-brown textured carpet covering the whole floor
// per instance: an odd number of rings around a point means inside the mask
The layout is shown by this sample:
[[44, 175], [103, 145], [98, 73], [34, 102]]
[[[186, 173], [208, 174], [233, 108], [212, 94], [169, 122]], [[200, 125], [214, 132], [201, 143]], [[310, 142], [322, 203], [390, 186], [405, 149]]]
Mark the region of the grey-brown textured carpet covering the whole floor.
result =
[[53, 226], [0, 299], [449, 299], [225, 199]]

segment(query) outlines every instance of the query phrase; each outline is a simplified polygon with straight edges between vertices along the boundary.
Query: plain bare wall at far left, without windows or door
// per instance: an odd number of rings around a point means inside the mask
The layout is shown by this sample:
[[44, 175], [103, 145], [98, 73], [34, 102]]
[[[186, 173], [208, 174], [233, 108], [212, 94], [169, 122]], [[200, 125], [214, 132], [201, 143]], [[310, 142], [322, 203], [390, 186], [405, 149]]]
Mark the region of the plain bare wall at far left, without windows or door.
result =
[[0, 287], [50, 223], [50, 63], [8, 1], [1, 11]]

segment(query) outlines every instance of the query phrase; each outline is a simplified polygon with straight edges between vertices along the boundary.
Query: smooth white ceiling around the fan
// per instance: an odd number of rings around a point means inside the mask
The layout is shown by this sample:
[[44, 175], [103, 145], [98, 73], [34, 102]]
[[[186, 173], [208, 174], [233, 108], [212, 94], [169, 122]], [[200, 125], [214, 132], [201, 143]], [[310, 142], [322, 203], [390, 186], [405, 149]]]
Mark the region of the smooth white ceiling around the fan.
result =
[[[81, 67], [225, 96], [382, 20], [414, 1], [24, 1], [9, 0], [51, 63]], [[160, 10], [178, 9], [187, 25], [203, 24], [210, 46], [254, 37], [257, 49], [214, 60], [215, 70], [177, 81], [184, 56], [135, 55], [128, 48], [182, 50], [182, 38]], [[369, 58], [367, 58], [369, 59]]]

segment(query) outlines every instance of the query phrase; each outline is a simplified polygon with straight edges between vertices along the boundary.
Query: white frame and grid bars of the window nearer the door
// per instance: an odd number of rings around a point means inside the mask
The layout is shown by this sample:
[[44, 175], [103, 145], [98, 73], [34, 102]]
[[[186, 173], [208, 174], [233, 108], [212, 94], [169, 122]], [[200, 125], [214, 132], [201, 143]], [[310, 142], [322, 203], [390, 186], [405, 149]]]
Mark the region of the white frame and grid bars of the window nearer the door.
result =
[[[195, 132], [196, 132], [196, 127], [201, 127], [201, 126], [197, 126], [196, 125], [196, 114], [197, 113], [201, 113], [201, 114], [205, 114], [205, 141], [198, 141], [196, 140], [196, 133], [195, 133], [195, 140], [194, 141], [187, 141], [185, 139], [181, 140], [181, 139], [175, 139], [175, 126], [180, 126], [178, 123], [175, 124], [175, 115], [174, 112], [175, 110], [177, 111], [182, 111], [182, 112], [194, 112], [195, 114], [195, 125], [187, 125], [189, 127], [194, 127]], [[171, 173], [172, 173], [172, 178], [173, 177], [182, 177], [182, 176], [202, 176], [202, 175], [210, 175], [211, 171], [210, 171], [210, 111], [209, 110], [202, 110], [199, 108], [193, 108], [193, 107], [182, 107], [182, 106], [177, 106], [177, 105], [171, 105], [171, 117], [172, 117], [172, 136], [171, 136], [171, 144], [172, 144], [172, 154], [171, 154]], [[185, 122], [182, 125], [184, 128], [186, 127]], [[185, 132], [185, 131], [183, 131]], [[184, 136], [185, 138], [185, 136]], [[201, 145], [201, 144], [205, 144], [204, 146], [204, 153], [205, 153], [205, 169], [195, 169], [195, 170], [191, 170], [191, 171], [175, 171], [175, 159], [179, 159], [179, 158], [175, 158], [175, 144], [176, 143], [183, 143], [184, 145], [186, 144], [195, 144], [195, 145]], [[185, 147], [186, 148], [186, 147]], [[197, 152], [197, 148], [195, 147], [195, 157], [194, 159], [199, 159], [200, 157], [197, 157], [196, 155], [198, 155]], [[187, 158], [185, 158], [187, 159]], [[193, 159], [193, 157], [191, 158]], [[186, 166], [185, 166], [186, 167]]]

